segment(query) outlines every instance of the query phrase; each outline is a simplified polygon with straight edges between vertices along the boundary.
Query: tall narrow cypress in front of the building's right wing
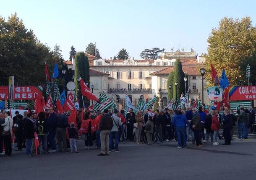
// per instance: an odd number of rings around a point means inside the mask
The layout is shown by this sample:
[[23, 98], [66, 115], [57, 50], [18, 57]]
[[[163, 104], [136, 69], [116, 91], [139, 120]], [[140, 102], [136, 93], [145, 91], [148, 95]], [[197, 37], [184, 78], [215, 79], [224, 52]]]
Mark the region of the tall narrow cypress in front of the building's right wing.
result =
[[[175, 82], [178, 82], [178, 85], [175, 86]], [[177, 88], [177, 97], [180, 98], [181, 93], [184, 93], [185, 84], [184, 84], [184, 72], [182, 71], [182, 65], [180, 59], [177, 58], [174, 64], [174, 74], [173, 74], [173, 97], [176, 97], [176, 88]]]

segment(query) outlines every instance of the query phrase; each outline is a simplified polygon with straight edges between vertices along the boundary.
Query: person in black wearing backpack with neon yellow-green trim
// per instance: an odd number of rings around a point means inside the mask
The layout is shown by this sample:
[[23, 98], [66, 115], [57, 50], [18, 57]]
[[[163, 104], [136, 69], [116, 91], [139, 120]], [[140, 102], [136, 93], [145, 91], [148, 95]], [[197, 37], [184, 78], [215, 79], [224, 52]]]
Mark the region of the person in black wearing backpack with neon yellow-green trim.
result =
[[41, 144], [43, 143], [43, 150], [44, 154], [47, 152], [47, 137], [48, 137], [48, 130], [47, 130], [47, 123], [45, 119], [44, 112], [39, 112], [38, 114], [39, 119], [37, 119], [37, 136], [39, 140], [39, 150], [41, 153]]

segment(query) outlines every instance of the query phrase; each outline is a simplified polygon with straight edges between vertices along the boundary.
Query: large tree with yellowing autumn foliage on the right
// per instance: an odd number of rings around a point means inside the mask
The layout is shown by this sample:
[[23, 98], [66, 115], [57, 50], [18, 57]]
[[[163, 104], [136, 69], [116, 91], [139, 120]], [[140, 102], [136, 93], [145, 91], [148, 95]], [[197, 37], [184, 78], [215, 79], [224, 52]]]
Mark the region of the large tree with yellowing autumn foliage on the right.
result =
[[246, 66], [251, 66], [253, 81], [256, 81], [256, 28], [251, 25], [251, 18], [223, 18], [218, 28], [213, 28], [208, 38], [205, 78], [212, 86], [211, 64], [221, 76], [225, 67], [227, 79], [231, 85], [246, 82]]

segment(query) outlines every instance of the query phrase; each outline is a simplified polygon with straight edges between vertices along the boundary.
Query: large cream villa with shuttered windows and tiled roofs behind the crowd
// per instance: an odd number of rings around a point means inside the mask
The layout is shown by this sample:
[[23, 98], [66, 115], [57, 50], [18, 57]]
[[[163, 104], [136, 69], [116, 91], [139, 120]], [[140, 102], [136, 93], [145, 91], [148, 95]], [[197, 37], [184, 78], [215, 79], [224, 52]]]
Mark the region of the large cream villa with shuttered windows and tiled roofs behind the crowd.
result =
[[[90, 63], [90, 84], [94, 85], [94, 94], [104, 91], [109, 97], [115, 95], [120, 106], [124, 105], [125, 92], [130, 97], [133, 105], [140, 98], [152, 99], [161, 91], [163, 105], [166, 106], [168, 99], [167, 77], [174, 71], [174, 63], [180, 59], [183, 71], [188, 74], [188, 86], [190, 98], [196, 98], [202, 93], [202, 76], [199, 67], [202, 63], [197, 60], [197, 54], [191, 49], [190, 52], [178, 50], [175, 52], [162, 52], [157, 60], [144, 59], [97, 59], [95, 56], [86, 54]], [[65, 61], [69, 68], [74, 69], [74, 58]], [[93, 71], [95, 70], [95, 71]], [[92, 74], [92, 72], [94, 72]], [[97, 72], [97, 73], [95, 73]], [[185, 91], [185, 90], [184, 90]], [[204, 91], [204, 99], [207, 99]], [[205, 102], [208, 104], [208, 102]]]

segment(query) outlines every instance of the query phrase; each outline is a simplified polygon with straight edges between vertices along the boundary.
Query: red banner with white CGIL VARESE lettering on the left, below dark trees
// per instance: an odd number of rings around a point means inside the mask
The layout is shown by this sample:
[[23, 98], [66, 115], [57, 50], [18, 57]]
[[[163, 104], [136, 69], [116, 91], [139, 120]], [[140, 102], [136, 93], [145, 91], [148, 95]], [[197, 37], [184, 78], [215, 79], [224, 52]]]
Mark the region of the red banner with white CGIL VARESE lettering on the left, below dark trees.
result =
[[[14, 100], [35, 99], [35, 94], [42, 99], [42, 86], [14, 86]], [[8, 86], [0, 86], [0, 100], [8, 99]]]

